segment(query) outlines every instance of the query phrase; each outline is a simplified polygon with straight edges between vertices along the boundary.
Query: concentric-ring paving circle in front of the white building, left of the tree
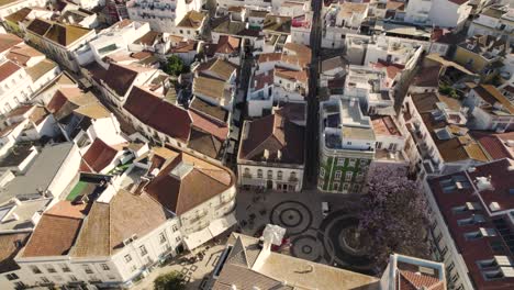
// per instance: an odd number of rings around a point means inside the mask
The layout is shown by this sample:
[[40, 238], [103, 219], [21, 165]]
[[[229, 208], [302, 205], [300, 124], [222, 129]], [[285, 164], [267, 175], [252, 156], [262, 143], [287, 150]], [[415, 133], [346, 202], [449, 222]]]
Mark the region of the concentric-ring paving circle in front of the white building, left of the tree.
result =
[[298, 235], [312, 224], [312, 213], [298, 201], [282, 201], [271, 210], [269, 220], [272, 224], [286, 227], [287, 235]]

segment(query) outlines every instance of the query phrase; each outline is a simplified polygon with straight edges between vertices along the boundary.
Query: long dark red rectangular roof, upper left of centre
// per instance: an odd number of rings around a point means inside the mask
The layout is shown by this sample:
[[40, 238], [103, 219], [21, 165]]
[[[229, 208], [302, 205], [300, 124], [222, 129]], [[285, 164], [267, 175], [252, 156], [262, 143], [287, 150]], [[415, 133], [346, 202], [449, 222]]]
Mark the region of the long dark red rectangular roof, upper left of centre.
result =
[[133, 87], [123, 108], [141, 122], [168, 136], [189, 140], [192, 119], [188, 111], [144, 89]]

